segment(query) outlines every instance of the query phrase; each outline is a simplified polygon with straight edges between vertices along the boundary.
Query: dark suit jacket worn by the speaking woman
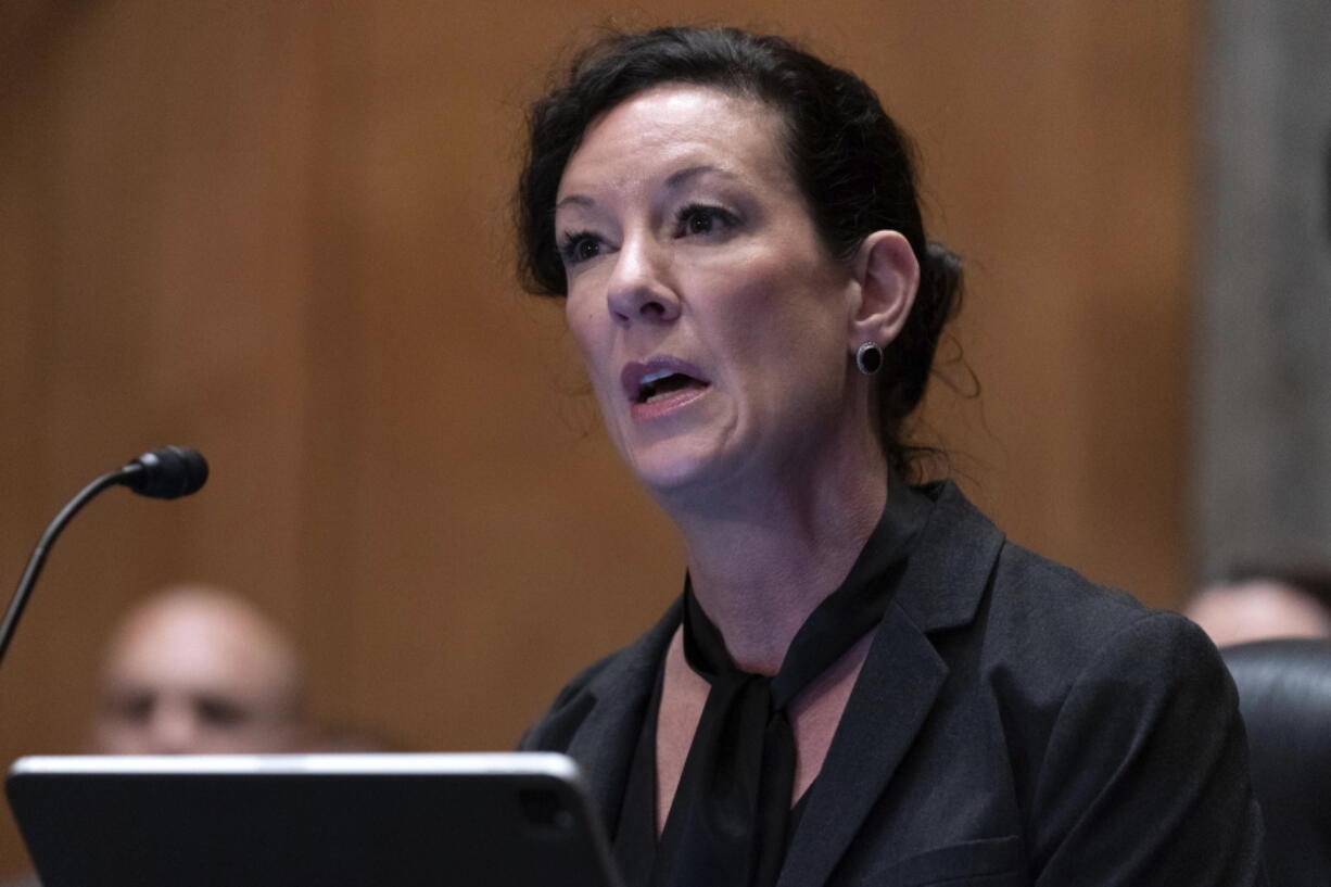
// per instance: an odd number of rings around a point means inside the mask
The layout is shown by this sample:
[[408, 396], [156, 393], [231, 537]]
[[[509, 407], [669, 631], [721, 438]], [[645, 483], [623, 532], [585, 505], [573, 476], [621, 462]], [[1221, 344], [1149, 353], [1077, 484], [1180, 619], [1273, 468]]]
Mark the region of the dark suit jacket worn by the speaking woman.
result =
[[[928, 493], [779, 887], [1264, 883], [1210, 641], [1012, 545], [950, 483]], [[677, 625], [675, 605], [523, 740], [582, 764], [611, 830]]]

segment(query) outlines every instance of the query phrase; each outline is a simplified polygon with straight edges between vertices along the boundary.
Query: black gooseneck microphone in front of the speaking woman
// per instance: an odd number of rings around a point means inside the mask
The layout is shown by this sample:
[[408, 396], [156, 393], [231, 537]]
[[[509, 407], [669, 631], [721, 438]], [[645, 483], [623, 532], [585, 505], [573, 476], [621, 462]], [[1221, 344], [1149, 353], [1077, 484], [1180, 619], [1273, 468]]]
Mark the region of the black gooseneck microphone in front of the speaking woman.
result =
[[9, 649], [9, 639], [19, 626], [23, 609], [28, 605], [28, 595], [37, 582], [43, 565], [47, 562], [47, 553], [55, 545], [56, 537], [65, 529], [65, 525], [88, 505], [93, 497], [109, 486], [124, 485], [140, 495], [156, 499], [176, 499], [182, 495], [197, 493], [208, 481], [208, 461], [197, 451], [184, 446], [164, 446], [149, 453], [144, 453], [132, 459], [125, 467], [102, 474], [96, 481], [79, 490], [79, 493], [60, 509], [55, 519], [47, 526], [47, 531], [37, 541], [37, 547], [28, 558], [28, 567], [19, 579], [19, 587], [9, 599], [9, 610], [5, 613], [4, 623], [0, 625], [0, 662], [4, 662], [5, 650]]

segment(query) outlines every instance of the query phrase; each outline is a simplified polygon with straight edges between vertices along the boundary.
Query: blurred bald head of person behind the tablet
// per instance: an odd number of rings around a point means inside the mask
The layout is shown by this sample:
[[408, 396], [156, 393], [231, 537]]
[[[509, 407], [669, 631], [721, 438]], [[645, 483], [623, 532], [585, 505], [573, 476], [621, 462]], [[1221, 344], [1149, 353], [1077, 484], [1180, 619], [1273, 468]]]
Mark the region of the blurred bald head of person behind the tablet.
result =
[[104, 754], [291, 751], [301, 695], [295, 651], [254, 606], [170, 589], [112, 635], [93, 743]]

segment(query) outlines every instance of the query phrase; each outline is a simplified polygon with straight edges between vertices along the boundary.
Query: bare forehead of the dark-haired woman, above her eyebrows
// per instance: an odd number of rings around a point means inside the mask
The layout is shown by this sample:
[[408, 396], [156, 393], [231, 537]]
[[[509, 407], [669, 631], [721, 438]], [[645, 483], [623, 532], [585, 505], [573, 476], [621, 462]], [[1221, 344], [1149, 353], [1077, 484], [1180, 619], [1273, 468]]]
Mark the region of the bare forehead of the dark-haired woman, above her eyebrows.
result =
[[792, 188], [780, 112], [711, 87], [669, 84], [596, 117], [568, 160], [559, 200], [600, 188], [651, 184], [705, 165], [753, 184]]

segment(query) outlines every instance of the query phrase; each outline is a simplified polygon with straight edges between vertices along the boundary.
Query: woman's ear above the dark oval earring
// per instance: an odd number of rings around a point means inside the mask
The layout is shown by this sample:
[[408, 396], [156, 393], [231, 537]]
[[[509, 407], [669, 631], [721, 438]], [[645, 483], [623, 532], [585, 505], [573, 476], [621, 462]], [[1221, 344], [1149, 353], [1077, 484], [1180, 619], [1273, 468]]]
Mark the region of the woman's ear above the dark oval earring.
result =
[[847, 350], [864, 342], [886, 348], [901, 333], [920, 288], [920, 262], [900, 232], [876, 230], [864, 238], [855, 257], [858, 305], [847, 330]]

